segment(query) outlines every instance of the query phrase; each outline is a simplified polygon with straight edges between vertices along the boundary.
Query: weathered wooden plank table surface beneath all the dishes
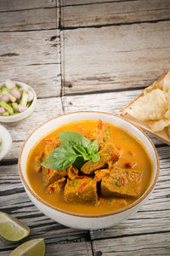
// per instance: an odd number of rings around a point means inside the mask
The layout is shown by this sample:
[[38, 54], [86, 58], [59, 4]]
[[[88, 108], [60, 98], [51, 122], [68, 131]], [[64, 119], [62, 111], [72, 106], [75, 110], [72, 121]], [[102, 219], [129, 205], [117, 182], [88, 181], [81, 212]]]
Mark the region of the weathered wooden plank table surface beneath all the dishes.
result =
[[[106, 230], [73, 230], [35, 207], [20, 182], [18, 156], [37, 125], [60, 113], [118, 113], [170, 70], [169, 0], [0, 0], [0, 82], [30, 84], [37, 108], [5, 125], [13, 145], [0, 162], [0, 209], [44, 237], [48, 256], [170, 255], [170, 148], [156, 145], [161, 171], [150, 200]], [[20, 242], [0, 238], [0, 255]], [[38, 256], [38, 255], [37, 255]]]

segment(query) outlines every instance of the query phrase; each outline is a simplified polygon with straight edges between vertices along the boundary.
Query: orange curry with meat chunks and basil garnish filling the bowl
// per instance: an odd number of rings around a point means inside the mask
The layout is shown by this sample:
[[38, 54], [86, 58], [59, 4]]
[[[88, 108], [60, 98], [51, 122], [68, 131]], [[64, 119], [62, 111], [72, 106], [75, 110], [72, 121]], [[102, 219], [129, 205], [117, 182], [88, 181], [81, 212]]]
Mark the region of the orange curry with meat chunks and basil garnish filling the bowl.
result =
[[26, 173], [34, 192], [67, 212], [114, 212], [150, 186], [153, 164], [144, 145], [102, 120], [61, 125], [31, 148]]

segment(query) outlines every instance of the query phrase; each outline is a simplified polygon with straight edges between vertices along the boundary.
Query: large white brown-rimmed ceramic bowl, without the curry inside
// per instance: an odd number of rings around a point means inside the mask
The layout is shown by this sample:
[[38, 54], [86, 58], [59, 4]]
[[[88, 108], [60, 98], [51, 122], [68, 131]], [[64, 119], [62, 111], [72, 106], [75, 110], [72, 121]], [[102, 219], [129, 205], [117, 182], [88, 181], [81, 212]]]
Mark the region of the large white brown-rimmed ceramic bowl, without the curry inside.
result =
[[[134, 137], [137, 137], [139, 141], [144, 144], [145, 148], [147, 148], [148, 153], [150, 154], [150, 159], [153, 162], [154, 173], [150, 183], [150, 187], [137, 201], [134, 201], [131, 205], [124, 207], [123, 209], [116, 212], [99, 215], [83, 215], [60, 210], [57, 207], [51, 206], [46, 201], [42, 201], [42, 199], [38, 195], [36, 195], [33, 189], [31, 189], [31, 185], [28, 182], [28, 178], [26, 176], [26, 160], [31, 148], [35, 145], [35, 143], [37, 143], [37, 141], [42, 136], [47, 134], [49, 131], [56, 129], [60, 125], [82, 119], [102, 119], [103, 121], [122, 127], [126, 131], [133, 134]], [[66, 113], [55, 117], [54, 119], [49, 119], [46, 123], [40, 125], [35, 131], [31, 133], [31, 135], [26, 139], [26, 142], [24, 143], [20, 151], [19, 171], [21, 181], [26, 189], [26, 193], [31, 198], [31, 201], [33, 201], [37, 208], [40, 209], [49, 218], [53, 218], [60, 224], [64, 224], [71, 228], [96, 230], [108, 228], [119, 224], [120, 222], [122, 222], [122, 220], [129, 218], [133, 212], [137, 212], [137, 210], [144, 204], [144, 201], [149, 197], [150, 192], [156, 185], [156, 180], [159, 175], [159, 159], [156, 153], [156, 148], [150, 141], [150, 138], [145, 135], [144, 131], [139, 129], [137, 126], [132, 125], [126, 119], [111, 113], [88, 111], [75, 112]]]

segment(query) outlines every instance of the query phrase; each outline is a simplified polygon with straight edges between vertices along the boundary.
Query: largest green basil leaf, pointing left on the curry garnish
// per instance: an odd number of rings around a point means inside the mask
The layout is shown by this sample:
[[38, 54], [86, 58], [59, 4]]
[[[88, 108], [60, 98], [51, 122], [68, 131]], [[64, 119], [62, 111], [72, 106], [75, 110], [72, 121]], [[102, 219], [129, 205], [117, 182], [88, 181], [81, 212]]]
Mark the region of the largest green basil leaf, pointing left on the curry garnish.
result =
[[52, 170], [65, 170], [80, 156], [69, 146], [60, 146], [42, 162], [42, 166]]

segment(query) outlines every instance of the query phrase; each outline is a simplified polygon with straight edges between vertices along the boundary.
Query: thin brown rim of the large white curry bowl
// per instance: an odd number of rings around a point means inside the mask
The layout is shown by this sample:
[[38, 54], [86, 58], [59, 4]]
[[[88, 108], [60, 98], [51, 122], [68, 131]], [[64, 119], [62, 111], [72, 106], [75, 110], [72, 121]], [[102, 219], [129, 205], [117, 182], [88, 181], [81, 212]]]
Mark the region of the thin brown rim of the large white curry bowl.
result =
[[[100, 213], [100, 214], [82, 214], [82, 213], [77, 213], [77, 212], [69, 212], [69, 211], [66, 211], [66, 210], [62, 210], [60, 209], [59, 207], [54, 207], [53, 205], [49, 204], [47, 201], [43, 201], [42, 198], [40, 198], [35, 192], [33, 189], [30, 189], [30, 187], [27, 185], [26, 183], [26, 180], [22, 174], [22, 171], [21, 171], [21, 165], [20, 165], [20, 162], [21, 162], [21, 157], [22, 157], [22, 152], [25, 148], [25, 145], [27, 143], [27, 141], [29, 140], [29, 138], [31, 137], [31, 135], [37, 131], [40, 127], [42, 127], [42, 125], [45, 125], [47, 124], [48, 122], [50, 122], [51, 120], [53, 119], [58, 119], [60, 118], [61, 116], [65, 116], [65, 115], [68, 115], [68, 114], [72, 114], [72, 113], [104, 113], [104, 114], [109, 114], [109, 115], [112, 115], [112, 116], [115, 116], [119, 119], [123, 119], [125, 120], [127, 123], [130, 123], [131, 125], [133, 125], [134, 127], [136, 127], [139, 131], [141, 131], [144, 136], [149, 140], [152, 148], [154, 149], [154, 152], [156, 154], [156, 166], [157, 166], [157, 171], [156, 171], [156, 177], [154, 179], [154, 182], [153, 184], [150, 186], [150, 189], [147, 189], [143, 195], [141, 195], [139, 197], [139, 199], [137, 199], [136, 201], [133, 201], [132, 204], [129, 204], [127, 205], [127, 207], [123, 207], [122, 209], [119, 209], [119, 210], [116, 210], [114, 212], [106, 212], [106, 213]], [[75, 112], [70, 112], [70, 113], [62, 113], [62, 114], [59, 114], [58, 116], [52, 118], [52, 119], [48, 119], [47, 121], [43, 122], [42, 125], [38, 125], [37, 128], [31, 132], [31, 134], [26, 138], [26, 141], [23, 143], [22, 145], [22, 148], [20, 149], [20, 155], [19, 155], [19, 163], [18, 163], [18, 168], [19, 168], [19, 173], [20, 173], [20, 179], [22, 181], [22, 183], [26, 186], [26, 189], [31, 193], [31, 195], [36, 198], [37, 201], [41, 202], [43, 205], [45, 205], [46, 207], [50, 207], [52, 208], [53, 210], [55, 211], [58, 211], [58, 212], [61, 212], [61, 213], [65, 213], [65, 214], [68, 214], [68, 215], [72, 215], [72, 216], [76, 216], [76, 217], [82, 217], [82, 218], [103, 218], [103, 217], [108, 217], [108, 216], [112, 216], [112, 215], [116, 215], [117, 213], [121, 213], [121, 212], [125, 212], [135, 206], [137, 206], [141, 201], [144, 201], [144, 199], [150, 194], [150, 192], [154, 189], [155, 185], [156, 185], [156, 182], [157, 182], [157, 179], [159, 177], [159, 172], [160, 172], [160, 161], [159, 161], [159, 156], [158, 156], [158, 153], [156, 151], [156, 147], [154, 145], [154, 143], [151, 141], [150, 137], [148, 137], [147, 134], [145, 134], [145, 132], [138, 126], [138, 125], [134, 125], [131, 121], [129, 121], [128, 119], [120, 116], [120, 115], [117, 115], [116, 113], [107, 113], [107, 112], [102, 112], [102, 111], [75, 111]], [[30, 185], [31, 186], [31, 185]]]

